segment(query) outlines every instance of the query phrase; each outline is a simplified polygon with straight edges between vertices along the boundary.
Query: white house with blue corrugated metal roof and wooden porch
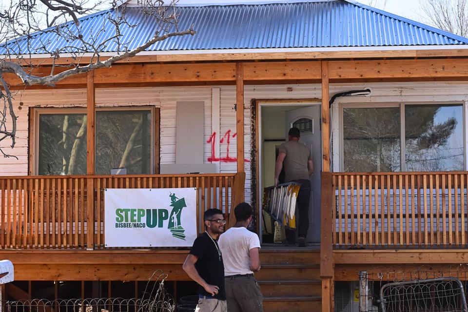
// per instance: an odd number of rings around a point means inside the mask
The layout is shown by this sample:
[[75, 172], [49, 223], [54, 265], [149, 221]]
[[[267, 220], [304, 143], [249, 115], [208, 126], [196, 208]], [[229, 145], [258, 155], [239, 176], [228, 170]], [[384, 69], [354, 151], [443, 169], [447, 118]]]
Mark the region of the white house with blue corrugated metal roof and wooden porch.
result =
[[[137, 1], [128, 9], [141, 18]], [[468, 39], [351, 0], [178, 14], [196, 36], [56, 88], [9, 80], [18, 159], [0, 159], [0, 254], [16, 282], [3, 298], [138, 297], [155, 269], [181, 296], [188, 251], [106, 247], [104, 190], [195, 187], [199, 233], [205, 209], [229, 215], [244, 200], [258, 234], [271, 233], [262, 189], [291, 125], [316, 167], [310, 246], [264, 245], [266, 311], [331, 311], [335, 282], [376, 266], [466, 262]], [[120, 167], [127, 175], [111, 175]]]

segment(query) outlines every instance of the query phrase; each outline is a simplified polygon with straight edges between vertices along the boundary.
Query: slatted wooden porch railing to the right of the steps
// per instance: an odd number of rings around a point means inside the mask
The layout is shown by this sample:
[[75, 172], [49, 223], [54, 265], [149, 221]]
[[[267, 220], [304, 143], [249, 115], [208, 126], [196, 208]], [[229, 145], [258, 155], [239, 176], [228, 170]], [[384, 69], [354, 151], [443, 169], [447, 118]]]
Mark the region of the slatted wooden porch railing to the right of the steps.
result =
[[334, 248], [467, 246], [467, 172], [323, 175]]

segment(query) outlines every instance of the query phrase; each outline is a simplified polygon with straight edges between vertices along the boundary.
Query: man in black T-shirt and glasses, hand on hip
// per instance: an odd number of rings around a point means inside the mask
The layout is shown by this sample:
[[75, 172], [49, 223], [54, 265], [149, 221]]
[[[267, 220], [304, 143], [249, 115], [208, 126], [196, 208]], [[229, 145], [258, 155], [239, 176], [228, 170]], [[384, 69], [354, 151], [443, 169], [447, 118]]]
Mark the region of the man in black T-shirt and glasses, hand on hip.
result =
[[195, 239], [182, 268], [199, 285], [195, 312], [226, 312], [223, 256], [216, 241], [226, 220], [219, 209], [205, 211], [203, 220], [206, 231]]

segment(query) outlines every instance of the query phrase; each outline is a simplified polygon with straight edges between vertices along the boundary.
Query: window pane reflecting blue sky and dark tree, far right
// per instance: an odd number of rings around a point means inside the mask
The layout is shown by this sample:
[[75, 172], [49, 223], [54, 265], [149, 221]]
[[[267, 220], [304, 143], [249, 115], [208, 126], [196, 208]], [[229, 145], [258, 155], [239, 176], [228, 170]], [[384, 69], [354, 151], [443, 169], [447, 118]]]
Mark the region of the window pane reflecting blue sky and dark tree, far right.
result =
[[464, 169], [462, 105], [405, 105], [408, 171]]

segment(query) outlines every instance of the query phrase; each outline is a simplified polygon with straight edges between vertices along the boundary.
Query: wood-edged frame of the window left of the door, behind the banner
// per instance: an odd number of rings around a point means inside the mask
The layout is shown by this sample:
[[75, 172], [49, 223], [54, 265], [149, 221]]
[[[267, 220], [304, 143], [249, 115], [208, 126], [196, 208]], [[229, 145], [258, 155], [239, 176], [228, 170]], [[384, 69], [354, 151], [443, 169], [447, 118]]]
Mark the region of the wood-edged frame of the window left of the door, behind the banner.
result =
[[[150, 175], [154, 175], [159, 173], [159, 108], [156, 106], [97, 106], [96, 112], [100, 111], [150, 111], [151, 119], [150, 119], [150, 129], [151, 129], [151, 138], [150, 138], [150, 168], [151, 173]], [[29, 159], [30, 163], [29, 168], [30, 172], [32, 171], [34, 175], [39, 175], [39, 117], [41, 114], [44, 115], [53, 115], [53, 114], [85, 114], [86, 115], [86, 107], [79, 106], [79, 107], [34, 107], [33, 110], [33, 120], [30, 121], [32, 124], [33, 130], [33, 140], [30, 141], [29, 147]], [[95, 119], [96, 120], [96, 119]], [[31, 144], [32, 143], [32, 144]], [[96, 144], [96, 140], [95, 140]], [[33, 146], [31, 146], [33, 145]], [[95, 148], [96, 150], [96, 148]], [[33, 154], [33, 155], [31, 155]], [[157, 157], [157, 159], [156, 159]], [[96, 170], [96, 168], [95, 168]], [[110, 173], [109, 173], [110, 175]]]

